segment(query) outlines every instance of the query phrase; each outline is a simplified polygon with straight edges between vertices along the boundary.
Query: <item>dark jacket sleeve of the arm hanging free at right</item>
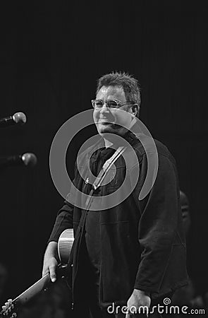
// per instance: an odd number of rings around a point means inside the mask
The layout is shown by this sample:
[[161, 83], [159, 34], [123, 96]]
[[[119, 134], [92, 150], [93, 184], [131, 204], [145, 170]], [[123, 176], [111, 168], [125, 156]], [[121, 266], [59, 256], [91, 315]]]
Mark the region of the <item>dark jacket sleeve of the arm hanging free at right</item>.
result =
[[[140, 184], [147, 172], [147, 158], [140, 165]], [[178, 223], [178, 176], [173, 158], [159, 155], [157, 177], [149, 194], [140, 201], [138, 240], [142, 249], [135, 288], [158, 293]]]

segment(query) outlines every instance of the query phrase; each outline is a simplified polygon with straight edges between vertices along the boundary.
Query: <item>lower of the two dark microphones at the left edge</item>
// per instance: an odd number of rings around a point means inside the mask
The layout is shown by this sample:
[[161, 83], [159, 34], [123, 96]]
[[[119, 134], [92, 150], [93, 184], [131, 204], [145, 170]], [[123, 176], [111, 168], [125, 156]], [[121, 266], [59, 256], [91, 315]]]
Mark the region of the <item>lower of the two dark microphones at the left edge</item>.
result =
[[37, 163], [37, 157], [34, 153], [24, 153], [23, 155], [10, 155], [0, 158], [0, 167], [8, 167], [11, 165], [25, 165], [26, 167], [34, 167]]

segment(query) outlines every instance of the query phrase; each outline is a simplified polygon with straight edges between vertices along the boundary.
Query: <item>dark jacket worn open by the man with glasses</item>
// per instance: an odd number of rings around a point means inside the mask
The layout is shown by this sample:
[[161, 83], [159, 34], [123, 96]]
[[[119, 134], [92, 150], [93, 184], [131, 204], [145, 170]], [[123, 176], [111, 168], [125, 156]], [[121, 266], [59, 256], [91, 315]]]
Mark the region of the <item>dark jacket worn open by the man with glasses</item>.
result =
[[[155, 153], [152, 153], [148, 146], [144, 148], [140, 140], [132, 134], [126, 139], [133, 149], [126, 149], [125, 160], [122, 156], [118, 158], [115, 163], [116, 176], [109, 184], [101, 187], [102, 196], [114, 193], [116, 189], [121, 189], [126, 177], [124, 189], [116, 192], [117, 198], [122, 199], [126, 189], [133, 187], [133, 180], [139, 174], [133, 192], [120, 204], [102, 211], [99, 295], [103, 306], [112, 302], [118, 305], [126, 304], [134, 288], [148, 291], [152, 299], [155, 299], [187, 283], [185, 237], [175, 160], [166, 146], [155, 141], [159, 158], [157, 178], [149, 194], [139, 200], [147, 177], [146, 152], [149, 152], [150, 156]], [[100, 141], [101, 146], [102, 142]], [[136, 156], [133, 156], [132, 150]], [[85, 180], [90, 172], [86, 163], [87, 160], [90, 161], [93, 153], [94, 146], [80, 155], [78, 165], [83, 178], [80, 177], [77, 167], [75, 168], [73, 183], [84, 193], [89, 192], [90, 186]], [[92, 165], [95, 165], [93, 155], [91, 160]], [[85, 236], [85, 218], [82, 224], [80, 218], [85, 211], [76, 206], [80, 206], [82, 198], [73, 192], [70, 196], [74, 205], [65, 201], [49, 241], [57, 241], [63, 230], [73, 227], [76, 240], [70, 265], [73, 263], [73, 296], [74, 302], [77, 302], [79, 289], [82, 288], [82, 282], [77, 278], [82, 271], [80, 259]]]

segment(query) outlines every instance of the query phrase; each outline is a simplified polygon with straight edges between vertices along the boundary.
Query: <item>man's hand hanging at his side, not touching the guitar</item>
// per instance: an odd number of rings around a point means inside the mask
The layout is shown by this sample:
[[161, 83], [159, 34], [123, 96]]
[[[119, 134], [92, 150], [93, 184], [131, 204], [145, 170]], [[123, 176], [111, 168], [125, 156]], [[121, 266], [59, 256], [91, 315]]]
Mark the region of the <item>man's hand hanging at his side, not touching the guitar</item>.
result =
[[[139, 307], [140, 306], [145, 306], [148, 307], [150, 306], [151, 298], [149, 296], [149, 293], [139, 290], [139, 289], [134, 289], [132, 295], [130, 296], [127, 306], [128, 306], [128, 314], [126, 314], [126, 318], [133, 317], [133, 313], [136, 314], [134, 311], [135, 309], [137, 310], [137, 313], [139, 313]], [[141, 310], [141, 314], [145, 314], [145, 310]], [[147, 312], [146, 312], [147, 314]]]

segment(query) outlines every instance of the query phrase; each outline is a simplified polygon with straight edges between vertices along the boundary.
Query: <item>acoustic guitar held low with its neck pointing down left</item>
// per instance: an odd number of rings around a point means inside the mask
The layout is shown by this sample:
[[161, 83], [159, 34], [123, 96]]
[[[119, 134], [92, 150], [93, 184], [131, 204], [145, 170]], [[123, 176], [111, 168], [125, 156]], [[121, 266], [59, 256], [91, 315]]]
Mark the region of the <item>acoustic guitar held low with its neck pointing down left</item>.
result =
[[[58, 242], [58, 254], [61, 263], [58, 266], [58, 271], [63, 272], [63, 269], [66, 268], [68, 264], [69, 255], [71, 253], [72, 245], [73, 245], [73, 229], [68, 228], [64, 230]], [[63, 276], [62, 276], [63, 277]], [[2, 306], [2, 310], [0, 312], [0, 317], [7, 317], [7, 318], [15, 318], [17, 317], [17, 310], [18, 307], [24, 305], [25, 302], [32, 299], [42, 290], [47, 288], [47, 285], [50, 282], [50, 275], [47, 273], [42, 278], [39, 279], [35, 284], [33, 284], [30, 288], [27, 288], [23, 293], [21, 293], [17, 298], [14, 300], [9, 299], [5, 302], [5, 305]]]

